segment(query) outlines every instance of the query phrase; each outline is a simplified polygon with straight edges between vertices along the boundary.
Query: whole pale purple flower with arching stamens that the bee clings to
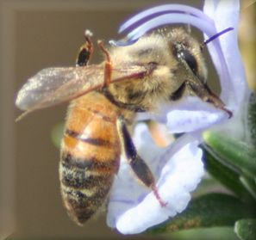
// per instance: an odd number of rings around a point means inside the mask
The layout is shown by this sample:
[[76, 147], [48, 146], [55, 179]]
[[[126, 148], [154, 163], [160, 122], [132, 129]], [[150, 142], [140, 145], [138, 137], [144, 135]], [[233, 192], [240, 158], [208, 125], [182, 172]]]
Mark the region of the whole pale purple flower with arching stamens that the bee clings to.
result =
[[[203, 11], [185, 5], [167, 4], [135, 15], [122, 25], [120, 32], [128, 32], [129, 44], [153, 28], [172, 23], [186, 23], [197, 27], [205, 34], [205, 39], [226, 28], [234, 28], [207, 46], [220, 77], [222, 101], [235, 115], [246, 89], [244, 68], [237, 45], [239, 9], [238, 0], [207, 0]], [[158, 115], [140, 114], [139, 118], [165, 123], [169, 132], [189, 133], [161, 149], [153, 143], [147, 126], [136, 126], [134, 144], [152, 169], [157, 179], [159, 195], [167, 202], [167, 206], [160, 206], [150, 189], [140, 186], [123, 157], [109, 196], [107, 220], [110, 227], [123, 234], [146, 231], [184, 210], [190, 200], [190, 192], [197, 188], [203, 176], [202, 151], [198, 148], [200, 132], [209, 126], [228, 121], [227, 113], [193, 96], [175, 104], [166, 103], [160, 109]]]

